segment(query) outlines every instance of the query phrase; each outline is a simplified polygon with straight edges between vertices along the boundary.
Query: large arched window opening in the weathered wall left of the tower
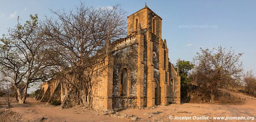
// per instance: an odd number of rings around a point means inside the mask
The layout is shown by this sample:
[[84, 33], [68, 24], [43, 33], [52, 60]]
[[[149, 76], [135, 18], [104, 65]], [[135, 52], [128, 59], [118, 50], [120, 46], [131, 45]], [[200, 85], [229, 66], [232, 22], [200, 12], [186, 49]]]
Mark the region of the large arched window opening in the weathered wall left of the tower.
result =
[[128, 72], [127, 69], [124, 68], [121, 70], [121, 96], [127, 96], [127, 86], [128, 86]]

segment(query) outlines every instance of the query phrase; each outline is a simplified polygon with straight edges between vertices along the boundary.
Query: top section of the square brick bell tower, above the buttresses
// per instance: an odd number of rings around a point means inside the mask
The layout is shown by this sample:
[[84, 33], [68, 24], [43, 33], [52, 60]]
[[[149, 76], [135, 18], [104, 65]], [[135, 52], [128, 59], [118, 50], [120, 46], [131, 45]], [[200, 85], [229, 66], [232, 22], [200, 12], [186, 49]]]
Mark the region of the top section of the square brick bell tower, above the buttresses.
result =
[[162, 36], [162, 18], [156, 15], [151, 9], [145, 5], [143, 9], [129, 15], [128, 17], [128, 36], [135, 35], [138, 30], [147, 30], [152, 34], [161, 38]]

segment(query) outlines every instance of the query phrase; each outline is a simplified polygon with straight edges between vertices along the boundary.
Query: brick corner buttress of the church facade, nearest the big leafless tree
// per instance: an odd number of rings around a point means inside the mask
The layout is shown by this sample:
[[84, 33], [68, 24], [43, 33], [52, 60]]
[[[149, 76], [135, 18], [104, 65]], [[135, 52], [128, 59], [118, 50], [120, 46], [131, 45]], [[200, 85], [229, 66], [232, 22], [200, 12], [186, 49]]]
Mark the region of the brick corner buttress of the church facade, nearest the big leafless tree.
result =
[[112, 109], [112, 95], [113, 95], [113, 63], [114, 59], [111, 55], [105, 58], [105, 65], [107, 66], [104, 71], [103, 84], [105, 87], [104, 97], [106, 102], [104, 104], [105, 109]]

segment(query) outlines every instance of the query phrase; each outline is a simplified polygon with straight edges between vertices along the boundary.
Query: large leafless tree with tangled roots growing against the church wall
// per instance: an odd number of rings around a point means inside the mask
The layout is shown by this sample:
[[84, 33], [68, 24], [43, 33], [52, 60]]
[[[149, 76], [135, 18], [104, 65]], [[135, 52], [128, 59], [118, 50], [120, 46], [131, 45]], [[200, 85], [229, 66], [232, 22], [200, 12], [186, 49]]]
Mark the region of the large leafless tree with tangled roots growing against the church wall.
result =
[[69, 12], [51, 12], [56, 16], [41, 22], [47, 50], [54, 52], [59, 76], [70, 86], [68, 94], [75, 91], [76, 105], [92, 107], [92, 77], [103, 71], [98, 64], [111, 52], [111, 42], [126, 34], [126, 12], [119, 4], [94, 8], [84, 3]]

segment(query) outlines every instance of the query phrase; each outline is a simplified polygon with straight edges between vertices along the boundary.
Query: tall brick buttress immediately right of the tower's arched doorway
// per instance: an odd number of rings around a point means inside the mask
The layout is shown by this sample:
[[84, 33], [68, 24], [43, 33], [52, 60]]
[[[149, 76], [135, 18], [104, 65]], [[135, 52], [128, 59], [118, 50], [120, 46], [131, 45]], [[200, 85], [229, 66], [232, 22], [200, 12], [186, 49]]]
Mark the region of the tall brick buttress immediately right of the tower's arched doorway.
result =
[[163, 41], [159, 38], [159, 75], [160, 75], [160, 87], [161, 87], [161, 105], [167, 105], [167, 84], [165, 81], [165, 47]]

